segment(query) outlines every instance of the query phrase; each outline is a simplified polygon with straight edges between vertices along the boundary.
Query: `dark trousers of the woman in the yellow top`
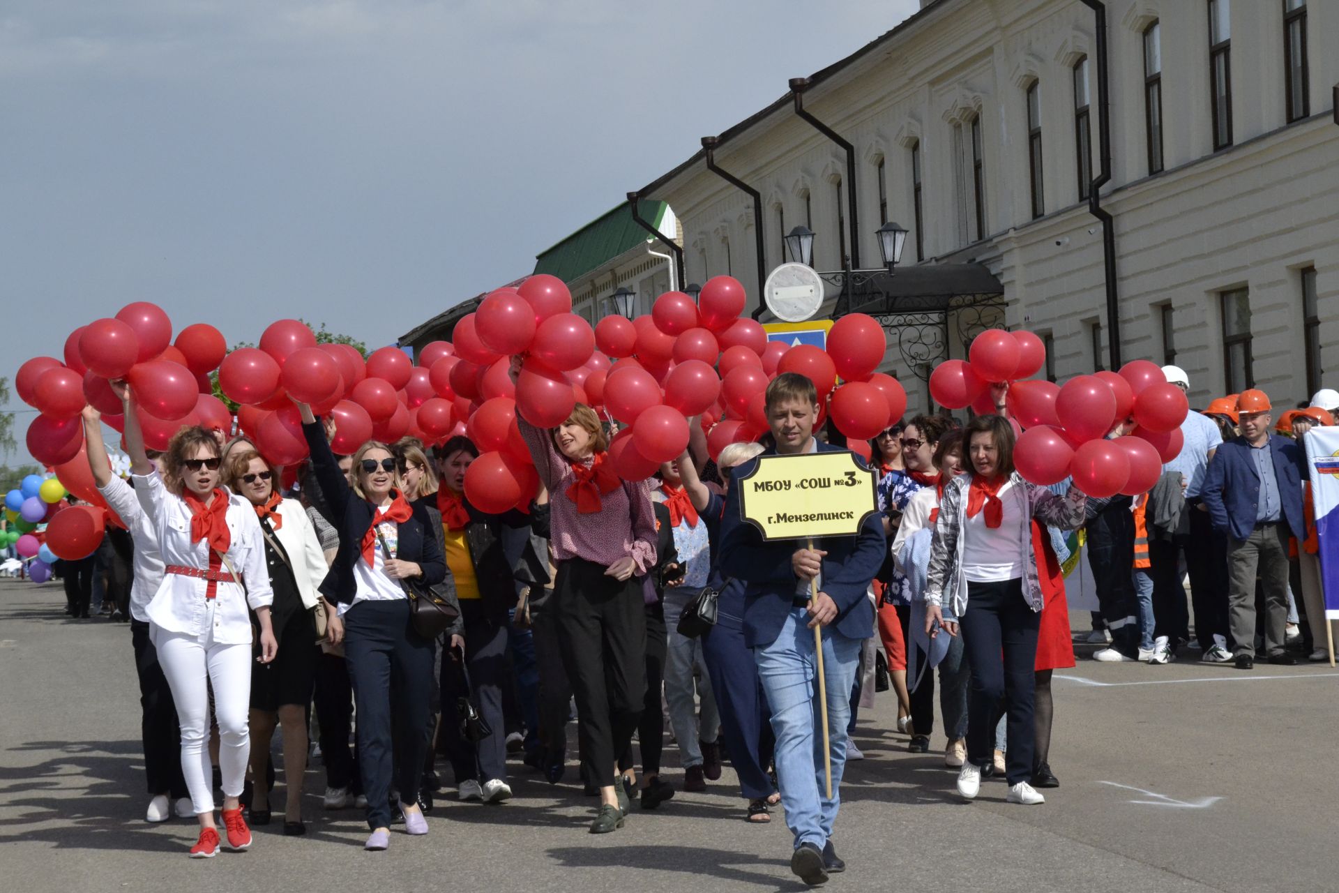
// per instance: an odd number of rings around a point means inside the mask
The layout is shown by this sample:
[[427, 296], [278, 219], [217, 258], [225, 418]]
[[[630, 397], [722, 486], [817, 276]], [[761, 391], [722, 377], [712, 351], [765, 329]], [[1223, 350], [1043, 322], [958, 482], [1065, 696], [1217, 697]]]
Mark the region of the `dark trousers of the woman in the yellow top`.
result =
[[[465, 620], [465, 669], [450, 651], [442, 652], [442, 728], [438, 732], [445, 744], [455, 783], [466, 779], [481, 782], [494, 778], [506, 781], [506, 719], [502, 712], [502, 688], [510, 683], [511, 664], [507, 660], [507, 616], [485, 611], [477, 598], [461, 600]], [[489, 734], [477, 744], [461, 736], [461, 712], [457, 700], [473, 689], [474, 706], [487, 724]]]

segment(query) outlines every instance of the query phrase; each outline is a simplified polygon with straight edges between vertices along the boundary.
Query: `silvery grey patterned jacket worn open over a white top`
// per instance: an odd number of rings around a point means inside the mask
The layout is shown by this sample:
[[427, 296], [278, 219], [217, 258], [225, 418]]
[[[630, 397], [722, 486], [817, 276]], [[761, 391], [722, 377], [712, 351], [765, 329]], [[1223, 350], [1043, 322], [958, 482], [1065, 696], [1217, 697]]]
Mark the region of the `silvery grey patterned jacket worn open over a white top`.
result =
[[[1024, 518], [1036, 518], [1050, 527], [1074, 530], [1083, 523], [1083, 506], [1087, 502], [1077, 487], [1070, 487], [1065, 497], [1058, 497], [1046, 487], [1028, 483], [1016, 471], [1010, 478], [1012, 487], [1006, 498], [1019, 501]], [[967, 523], [967, 490], [972, 475], [953, 478], [944, 487], [939, 519], [935, 522], [935, 536], [931, 540], [929, 572], [925, 582], [925, 601], [943, 605], [944, 593], [951, 597], [952, 612], [961, 617], [967, 611], [967, 576], [963, 573], [963, 553], [965, 545], [959, 536]], [[1023, 558], [1023, 596], [1032, 611], [1040, 611], [1044, 601], [1042, 584], [1036, 573], [1036, 553], [1032, 550], [1032, 537], [1026, 536], [1019, 544]]]

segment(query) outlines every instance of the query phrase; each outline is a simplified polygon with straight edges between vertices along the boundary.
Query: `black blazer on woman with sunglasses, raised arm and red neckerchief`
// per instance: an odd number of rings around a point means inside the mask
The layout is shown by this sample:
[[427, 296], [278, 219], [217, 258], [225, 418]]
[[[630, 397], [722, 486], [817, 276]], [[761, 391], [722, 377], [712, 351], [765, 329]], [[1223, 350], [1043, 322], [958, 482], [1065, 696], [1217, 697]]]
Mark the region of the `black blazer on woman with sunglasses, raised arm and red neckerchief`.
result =
[[[344, 473], [339, 470], [331, 444], [325, 440], [325, 428], [321, 420], [303, 426], [307, 435], [307, 446], [312, 453], [312, 470], [321, 487], [331, 514], [335, 519], [335, 529], [339, 530], [339, 553], [329, 573], [321, 581], [320, 592], [329, 601], [351, 602], [358, 594], [358, 582], [353, 577], [353, 562], [363, 560], [363, 534], [372, 526], [375, 510], [367, 499], [358, 498], [353, 489], [344, 479]], [[399, 544], [396, 557], [414, 561], [423, 569], [423, 581], [435, 585], [447, 578], [446, 557], [438, 545], [427, 506], [410, 505], [412, 515], [399, 525]], [[454, 596], [454, 586], [453, 596]]]

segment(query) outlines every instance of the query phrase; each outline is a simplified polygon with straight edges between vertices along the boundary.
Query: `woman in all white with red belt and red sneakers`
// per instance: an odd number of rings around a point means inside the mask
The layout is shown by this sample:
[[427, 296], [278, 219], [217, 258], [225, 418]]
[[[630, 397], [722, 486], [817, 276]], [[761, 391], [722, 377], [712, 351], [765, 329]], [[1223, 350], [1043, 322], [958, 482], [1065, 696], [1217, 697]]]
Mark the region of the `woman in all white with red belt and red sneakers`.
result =
[[150, 636], [177, 704], [181, 768], [200, 819], [200, 839], [190, 856], [210, 858], [220, 847], [206, 747], [210, 688], [228, 847], [244, 850], [252, 842], [238, 802], [250, 754], [248, 605], [260, 624], [257, 660], [269, 663], [277, 649], [269, 617], [274, 596], [260, 523], [249, 502], [218, 486], [218, 442], [213, 434], [201, 427], [178, 431], [161, 459], [159, 474], [145, 454], [130, 386], [118, 382], [114, 388], [126, 404], [126, 451], [135, 495], [157, 533], [165, 565], [147, 613]]

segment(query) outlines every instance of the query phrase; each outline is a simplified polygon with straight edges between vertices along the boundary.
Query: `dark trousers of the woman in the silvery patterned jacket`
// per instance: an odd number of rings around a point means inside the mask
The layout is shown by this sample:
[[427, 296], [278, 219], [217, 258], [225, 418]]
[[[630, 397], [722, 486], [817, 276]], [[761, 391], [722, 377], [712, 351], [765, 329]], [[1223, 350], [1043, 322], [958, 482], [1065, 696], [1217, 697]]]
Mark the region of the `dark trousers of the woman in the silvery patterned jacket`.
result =
[[[995, 754], [995, 723], [1008, 699], [1007, 771], [1010, 785], [1032, 777], [1036, 728], [1036, 631], [1040, 612], [1023, 597], [1023, 581], [968, 582], [967, 611], [959, 619], [963, 648], [972, 667], [967, 699], [967, 759], [986, 766]], [[920, 730], [917, 730], [920, 731]]]

